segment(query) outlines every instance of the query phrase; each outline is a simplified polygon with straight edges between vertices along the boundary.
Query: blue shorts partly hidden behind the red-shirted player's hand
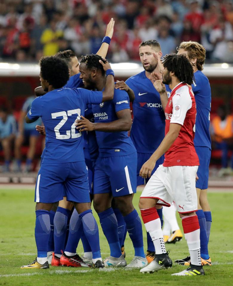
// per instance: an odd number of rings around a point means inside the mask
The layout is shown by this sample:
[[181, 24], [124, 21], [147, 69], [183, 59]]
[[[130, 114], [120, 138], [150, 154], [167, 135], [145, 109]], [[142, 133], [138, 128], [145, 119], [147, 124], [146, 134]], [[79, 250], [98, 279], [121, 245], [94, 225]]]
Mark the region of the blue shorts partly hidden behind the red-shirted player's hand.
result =
[[[152, 154], [149, 154], [149, 153], [137, 153], [137, 154], [138, 154], [137, 186], [146, 185], [146, 183], [149, 181], [149, 178], [144, 179], [144, 178], [139, 176], [139, 173], [140, 173], [142, 165], [150, 158], [150, 156]], [[152, 176], [152, 174], [155, 173], [155, 171], [157, 170], [158, 166], [163, 164], [163, 161], [164, 161], [164, 155], [162, 157], [160, 157], [158, 159], [158, 161], [156, 162], [155, 168], [153, 169], [153, 171], [151, 173], [151, 176]]]

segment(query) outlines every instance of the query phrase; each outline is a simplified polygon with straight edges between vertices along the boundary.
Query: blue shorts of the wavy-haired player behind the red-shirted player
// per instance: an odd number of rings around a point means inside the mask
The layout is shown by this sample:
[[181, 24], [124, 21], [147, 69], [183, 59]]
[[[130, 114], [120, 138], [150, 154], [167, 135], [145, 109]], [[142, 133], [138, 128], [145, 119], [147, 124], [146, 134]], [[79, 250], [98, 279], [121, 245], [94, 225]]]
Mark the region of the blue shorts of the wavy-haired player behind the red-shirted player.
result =
[[209, 162], [211, 157], [211, 150], [209, 147], [195, 146], [197, 156], [199, 158], [200, 166], [198, 166], [196, 188], [205, 190], [208, 188], [209, 180]]

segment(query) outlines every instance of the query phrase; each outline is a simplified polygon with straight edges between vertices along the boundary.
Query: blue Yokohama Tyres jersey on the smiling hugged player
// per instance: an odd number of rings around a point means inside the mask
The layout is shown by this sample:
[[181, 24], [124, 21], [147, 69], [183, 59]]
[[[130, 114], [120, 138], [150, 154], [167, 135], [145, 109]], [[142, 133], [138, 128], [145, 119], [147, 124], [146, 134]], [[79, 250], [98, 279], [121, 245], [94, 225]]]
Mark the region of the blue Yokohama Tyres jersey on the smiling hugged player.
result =
[[[118, 120], [116, 112], [129, 108], [127, 92], [119, 89], [114, 90], [113, 100], [98, 105], [92, 104], [95, 123]], [[136, 151], [127, 131], [96, 131], [95, 134], [99, 146], [99, 157], [126, 156]]]

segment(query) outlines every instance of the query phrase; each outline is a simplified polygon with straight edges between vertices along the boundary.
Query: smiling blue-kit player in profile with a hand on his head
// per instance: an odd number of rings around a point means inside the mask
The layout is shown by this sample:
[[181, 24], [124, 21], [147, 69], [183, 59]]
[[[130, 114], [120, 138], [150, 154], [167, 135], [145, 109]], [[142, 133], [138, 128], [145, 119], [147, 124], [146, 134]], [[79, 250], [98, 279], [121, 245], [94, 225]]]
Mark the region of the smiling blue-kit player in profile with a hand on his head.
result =
[[[80, 62], [80, 78], [87, 89], [104, 88], [106, 76], [98, 58], [97, 55], [86, 55]], [[115, 89], [112, 101], [93, 104], [92, 111], [95, 123], [84, 117], [76, 121], [77, 128], [82, 132], [95, 130], [99, 146], [94, 171], [93, 205], [110, 247], [110, 256], [104, 264], [105, 267], [126, 266], [118, 238], [117, 219], [111, 207], [114, 197], [135, 249], [134, 259], [126, 267], [141, 268], [147, 265], [147, 260], [143, 250], [141, 219], [132, 205], [136, 192], [137, 153], [127, 132], [132, 124], [129, 96], [125, 91]]]

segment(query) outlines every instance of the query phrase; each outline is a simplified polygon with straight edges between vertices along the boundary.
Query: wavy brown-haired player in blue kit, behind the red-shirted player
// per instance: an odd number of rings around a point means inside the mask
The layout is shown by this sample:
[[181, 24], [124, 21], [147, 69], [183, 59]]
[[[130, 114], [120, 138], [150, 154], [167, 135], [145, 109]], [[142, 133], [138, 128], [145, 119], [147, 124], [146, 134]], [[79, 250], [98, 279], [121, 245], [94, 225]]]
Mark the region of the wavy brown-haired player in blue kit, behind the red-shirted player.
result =
[[[201, 262], [204, 265], [211, 266], [208, 242], [212, 216], [207, 199], [209, 162], [211, 157], [211, 138], [209, 132], [211, 89], [208, 78], [202, 72], [206, 50], [201, 44], [192, 41], [180, 43], [177, 50], [179, 55], [186, 55], [194, 71], [195, 82], [192, 84], [192, 90], [195, 95], [197, 107], [194, 146], [200, 161], [200, 166], [197, 170], [197, 177], [199, 179], [196, 182], [198, 198], [198, 211], [196, 211], [196, 214], [200, 225]], [[190, 262], [190, 256], [185, 259], [176, 260], [175, 262], [187, 266]]]

